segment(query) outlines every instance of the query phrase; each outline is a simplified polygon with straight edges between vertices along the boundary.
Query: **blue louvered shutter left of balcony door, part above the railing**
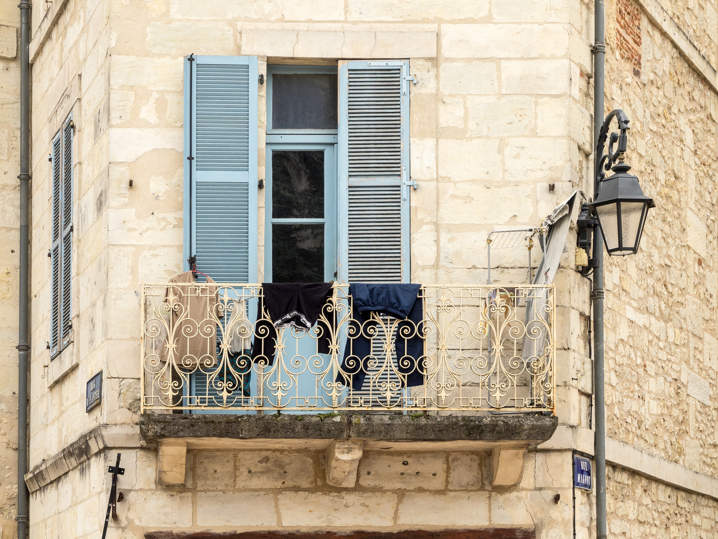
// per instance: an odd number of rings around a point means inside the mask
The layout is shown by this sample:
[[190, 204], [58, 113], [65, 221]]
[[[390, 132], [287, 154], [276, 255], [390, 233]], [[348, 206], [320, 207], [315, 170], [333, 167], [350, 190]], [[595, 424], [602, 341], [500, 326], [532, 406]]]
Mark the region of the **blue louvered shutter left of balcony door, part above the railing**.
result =
[[185, 60], [185, 253], [216, 282], [257, 278], [257, 86], [255, 56]]

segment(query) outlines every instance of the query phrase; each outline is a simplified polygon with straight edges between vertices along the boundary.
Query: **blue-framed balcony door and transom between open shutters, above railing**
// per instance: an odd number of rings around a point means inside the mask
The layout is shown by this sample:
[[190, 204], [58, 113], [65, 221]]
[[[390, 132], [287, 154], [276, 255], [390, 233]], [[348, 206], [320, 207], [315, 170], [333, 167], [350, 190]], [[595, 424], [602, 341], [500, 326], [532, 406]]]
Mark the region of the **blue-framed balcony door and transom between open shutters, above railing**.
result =
[[337, 280], [337, 66], [269, 65], [264, 278]]

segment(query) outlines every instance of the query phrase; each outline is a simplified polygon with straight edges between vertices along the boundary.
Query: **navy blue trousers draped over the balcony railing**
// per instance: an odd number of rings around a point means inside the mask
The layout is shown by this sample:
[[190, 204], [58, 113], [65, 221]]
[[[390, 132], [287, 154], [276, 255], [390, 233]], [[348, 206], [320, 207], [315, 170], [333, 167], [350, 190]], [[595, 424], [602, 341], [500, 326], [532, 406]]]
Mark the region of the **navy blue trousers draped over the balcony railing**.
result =
[[[421, 285], [387, 284], [368, 285], [352, 283], [349, 294], [352, 298], [352, 319], [348, 329], [348, 340], [344, 349], [342, 372], [351, 378], [353, 390], [360, 390], [367, 374], [372, 356], [371, 338], [376, 334], [375, 319], [371, 314], [389, 315], [401, 319], [396, 327], [396, 370], [405, 374], [402, 384], [416, 386], [424, 384], [421, 357], [424, 356], [423, 325], [424, 302], [419, 296]], [[342, 374], [337, 382], [346, 383]]]

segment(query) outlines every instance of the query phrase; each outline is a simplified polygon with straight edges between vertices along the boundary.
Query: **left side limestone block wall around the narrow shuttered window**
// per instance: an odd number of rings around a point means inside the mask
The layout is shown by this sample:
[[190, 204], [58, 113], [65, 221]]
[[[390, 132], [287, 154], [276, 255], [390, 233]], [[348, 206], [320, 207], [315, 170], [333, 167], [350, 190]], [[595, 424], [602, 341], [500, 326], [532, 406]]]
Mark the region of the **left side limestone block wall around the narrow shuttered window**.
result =
[[[39, 2], [36, 2], [39, 4]], [[108, 200], [106, 3], [58, 2], [57, 22], [32, 64], [31, 397], [29, 465], [60, 451], [101, 421], [85, 413], [85, 381], [105, 363]], [[57, 7], [56, 6], [56, 7]], [[52, 13], [52, 11], [50, 11]], [[42, 32], [42, 26], [38, 32]], [[37, 37], [37, 36], [36, 36]], [[50, 340], [52, 137], [72, 112], [73, 343], [53, 361]], [[47, 366], [47, 367], [45, 367]], [[108, 397], [106, 397], [108, 398]]]

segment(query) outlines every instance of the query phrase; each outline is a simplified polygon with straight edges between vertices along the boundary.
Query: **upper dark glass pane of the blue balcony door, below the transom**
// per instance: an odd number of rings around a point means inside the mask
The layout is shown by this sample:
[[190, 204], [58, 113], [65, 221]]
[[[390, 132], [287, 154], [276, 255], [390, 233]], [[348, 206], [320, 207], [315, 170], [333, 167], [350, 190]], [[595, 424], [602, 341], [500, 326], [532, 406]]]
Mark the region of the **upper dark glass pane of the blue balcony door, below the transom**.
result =
[[324, 152], [271, 152], [273, 218], [324, 217]]

